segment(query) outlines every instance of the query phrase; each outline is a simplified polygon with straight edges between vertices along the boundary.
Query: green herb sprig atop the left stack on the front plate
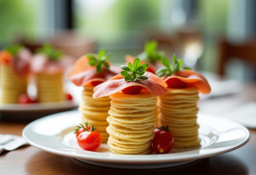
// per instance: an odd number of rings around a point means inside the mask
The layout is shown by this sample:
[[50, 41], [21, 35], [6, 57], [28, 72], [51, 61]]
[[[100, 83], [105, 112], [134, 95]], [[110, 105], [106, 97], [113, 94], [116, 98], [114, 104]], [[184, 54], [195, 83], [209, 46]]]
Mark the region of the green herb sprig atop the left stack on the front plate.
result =
[[93, 54], [86, 55], [90, 59], [88, 64], [95, 66], [98, 73], [101, 72], [103, 67], [109, 68], [107, 59], [110, 57], [110, 53], [105, 54], [105, 52], [105, 49], [101, 49], [97, 55], [97, 58]]

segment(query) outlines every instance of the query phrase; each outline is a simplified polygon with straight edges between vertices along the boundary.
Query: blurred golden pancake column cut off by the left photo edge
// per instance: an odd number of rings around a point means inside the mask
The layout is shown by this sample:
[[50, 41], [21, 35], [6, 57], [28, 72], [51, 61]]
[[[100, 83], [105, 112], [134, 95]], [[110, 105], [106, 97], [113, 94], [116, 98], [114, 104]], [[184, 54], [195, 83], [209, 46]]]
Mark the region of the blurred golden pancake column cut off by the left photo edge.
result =
[[27, 92], [27, 76], [19, 76], [10, 65], [1, 65], [1, 103], [17, 103], [19, 95]]

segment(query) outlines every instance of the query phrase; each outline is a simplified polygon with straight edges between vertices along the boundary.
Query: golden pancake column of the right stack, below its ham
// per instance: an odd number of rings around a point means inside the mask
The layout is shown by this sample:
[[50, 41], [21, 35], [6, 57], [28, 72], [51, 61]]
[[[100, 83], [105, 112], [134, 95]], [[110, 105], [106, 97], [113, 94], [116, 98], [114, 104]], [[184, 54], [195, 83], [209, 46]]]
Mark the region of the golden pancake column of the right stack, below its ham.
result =
[[197, 124], [198, 88], [169, 88], [165, 95], [160, 96], [158, 107], [159, 125], [169, 126], [174, 137], [175, 148], [188, 148], [200, 145]]

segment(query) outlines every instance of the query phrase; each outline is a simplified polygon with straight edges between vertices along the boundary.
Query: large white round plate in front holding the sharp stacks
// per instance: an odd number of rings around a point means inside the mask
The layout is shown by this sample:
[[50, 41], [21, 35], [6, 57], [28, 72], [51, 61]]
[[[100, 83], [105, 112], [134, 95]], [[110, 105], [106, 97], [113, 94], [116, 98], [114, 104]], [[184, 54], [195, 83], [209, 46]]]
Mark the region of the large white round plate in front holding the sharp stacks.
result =
[[77, 145], [74, 129], [80, 113], [68, 111], [53, 114], [28, 124], [22, 135], [32, 146], [44, 151], [73, 157], [86, 163], [114, 168], [163, 168], [182, 165], [197, 159], [235, 150], [250, 139], [249, 131], [239, 123], [209, 114], [198, 114], [201, 147], [172, 149], [169, 154], [116, 155], [107, 144], [95, 151], [85, 151]]

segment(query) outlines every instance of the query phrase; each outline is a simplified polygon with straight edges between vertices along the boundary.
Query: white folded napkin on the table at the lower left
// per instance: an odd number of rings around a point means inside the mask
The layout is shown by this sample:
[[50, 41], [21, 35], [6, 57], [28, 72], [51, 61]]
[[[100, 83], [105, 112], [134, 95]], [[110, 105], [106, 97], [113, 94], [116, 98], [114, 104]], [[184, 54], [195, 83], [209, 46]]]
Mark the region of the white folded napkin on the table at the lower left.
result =
[[4, 151], [12, 151], [28, 143], [20, 136], [0, 134], [0, 154]]

